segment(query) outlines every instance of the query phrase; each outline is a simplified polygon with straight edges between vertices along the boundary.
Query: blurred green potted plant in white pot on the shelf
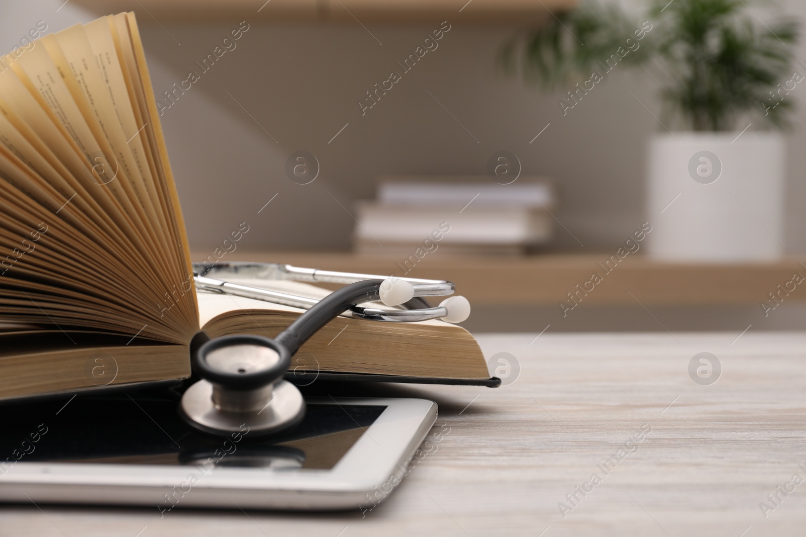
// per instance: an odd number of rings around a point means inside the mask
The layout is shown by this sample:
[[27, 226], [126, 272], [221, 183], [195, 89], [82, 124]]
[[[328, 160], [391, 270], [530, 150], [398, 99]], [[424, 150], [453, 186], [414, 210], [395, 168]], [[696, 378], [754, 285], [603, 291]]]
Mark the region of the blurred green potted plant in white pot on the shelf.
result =
[[796, 40], [796, 23], [764, 23], [742, 0], [657, 0], [639, 19], [588, 2], [516, 35], [501, 60], [527, 81], [568, 89], [563, 114], [616, 64], [653, 68], [663, 112], [649, 147], [647, 251], [769, 260], [783, 254], [779, 130], [806, 74], [792, 67]]

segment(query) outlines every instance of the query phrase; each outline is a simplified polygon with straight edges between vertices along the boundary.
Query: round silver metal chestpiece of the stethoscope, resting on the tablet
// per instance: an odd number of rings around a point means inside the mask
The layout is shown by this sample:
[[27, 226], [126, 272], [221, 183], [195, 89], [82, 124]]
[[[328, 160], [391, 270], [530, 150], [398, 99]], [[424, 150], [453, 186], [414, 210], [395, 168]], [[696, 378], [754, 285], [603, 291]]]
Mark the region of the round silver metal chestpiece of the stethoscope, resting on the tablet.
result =
[[267, 435], [293, 428], [305, 415], [305, 400], [283, 380], [291, 354], [260, 336], [224, 336], [207, 341], [193, 355], [202, 380], [179, 405], [194, 428], [220, 436], [248, 431]]

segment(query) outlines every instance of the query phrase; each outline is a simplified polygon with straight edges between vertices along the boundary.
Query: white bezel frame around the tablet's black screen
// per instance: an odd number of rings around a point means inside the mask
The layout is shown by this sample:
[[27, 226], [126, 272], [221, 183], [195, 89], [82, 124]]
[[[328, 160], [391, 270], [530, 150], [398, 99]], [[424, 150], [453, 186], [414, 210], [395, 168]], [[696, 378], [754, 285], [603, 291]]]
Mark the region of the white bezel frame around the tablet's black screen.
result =
[[301, 510], [369, 506], [384, 499], [400, 481], [437, 418], [437, 404], [426, 399], [307, 401], [386, 408], [332, 469], [282, 472], [217, 466], [189, 485], [192, 466], [23, 460], [0, 476], [0, 501], [142, 505], [161, 510], [186, 506]]

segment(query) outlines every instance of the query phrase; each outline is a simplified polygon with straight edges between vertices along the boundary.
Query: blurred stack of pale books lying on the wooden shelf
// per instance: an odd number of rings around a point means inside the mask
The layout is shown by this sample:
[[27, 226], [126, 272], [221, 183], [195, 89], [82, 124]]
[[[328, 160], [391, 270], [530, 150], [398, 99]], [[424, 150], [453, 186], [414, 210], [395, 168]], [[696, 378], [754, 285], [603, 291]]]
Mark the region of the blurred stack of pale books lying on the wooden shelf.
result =
[[385, 177], [376, 200], [356, 204], [355, 250], [523, 254], [550, 242], [556, 203], [543, 177]]

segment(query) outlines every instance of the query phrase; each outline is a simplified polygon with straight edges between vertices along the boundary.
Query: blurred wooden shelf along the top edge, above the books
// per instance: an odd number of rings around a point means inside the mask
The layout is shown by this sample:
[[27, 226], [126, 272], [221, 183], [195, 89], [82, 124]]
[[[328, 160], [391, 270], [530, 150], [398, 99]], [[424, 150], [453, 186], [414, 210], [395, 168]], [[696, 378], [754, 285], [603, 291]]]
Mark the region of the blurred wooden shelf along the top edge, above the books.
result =
[[96, 14], [133, 10], [152, 21], [246, 20], [264, 22], [534, 23], [550, 11], [570, 10], [577, 0], [74, 0]]

